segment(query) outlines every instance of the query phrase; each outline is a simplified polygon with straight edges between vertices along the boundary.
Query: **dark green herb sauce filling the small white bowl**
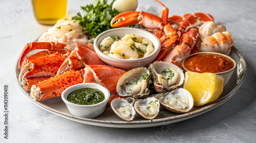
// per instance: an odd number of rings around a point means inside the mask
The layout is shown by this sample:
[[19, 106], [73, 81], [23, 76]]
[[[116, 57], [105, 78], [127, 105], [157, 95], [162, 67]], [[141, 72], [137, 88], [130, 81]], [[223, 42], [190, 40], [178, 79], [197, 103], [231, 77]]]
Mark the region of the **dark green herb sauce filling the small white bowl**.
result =
[[93, 105], [100, 103], [105, 99], [102, 91], [94, 88], [81, 88], [72, 91], [67, 100], [80, 105]]

